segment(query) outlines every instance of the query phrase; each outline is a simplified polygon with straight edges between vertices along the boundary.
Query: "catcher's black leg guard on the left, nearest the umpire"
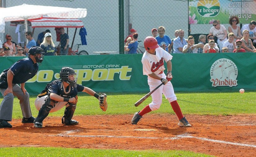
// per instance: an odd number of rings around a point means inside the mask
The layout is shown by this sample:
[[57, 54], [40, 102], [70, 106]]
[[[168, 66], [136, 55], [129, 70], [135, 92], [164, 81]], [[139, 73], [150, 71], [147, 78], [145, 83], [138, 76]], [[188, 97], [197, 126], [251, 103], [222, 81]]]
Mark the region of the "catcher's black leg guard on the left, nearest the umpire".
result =
[[51, 111], [52, 108], [53, 108], [53, 106], [51, 105], [50, 96], [47, 96], [46, 99], [45, 99], [45, 103], [40, 108], [40, 110], [38, 112], [38, 116], [36, 117], [34, 122], [42, 123], [43, 120], [48, 116], [48, 114], [49, 114], [49, 112]]

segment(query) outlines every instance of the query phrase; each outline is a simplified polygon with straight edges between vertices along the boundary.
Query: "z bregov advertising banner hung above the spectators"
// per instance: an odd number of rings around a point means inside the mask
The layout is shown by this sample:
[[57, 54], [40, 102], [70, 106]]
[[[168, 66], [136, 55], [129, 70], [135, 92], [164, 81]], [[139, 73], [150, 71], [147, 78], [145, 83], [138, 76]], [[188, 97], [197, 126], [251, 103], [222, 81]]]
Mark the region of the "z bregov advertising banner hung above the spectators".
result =
[[220, 20], [221, 24], [228, 24], [231, 16], [237, 16], [240, 24], [249, 24], [256, 18], [255, 8], [255, 1], [189, 1], [189, 24], [212, 24], [213, 20]]

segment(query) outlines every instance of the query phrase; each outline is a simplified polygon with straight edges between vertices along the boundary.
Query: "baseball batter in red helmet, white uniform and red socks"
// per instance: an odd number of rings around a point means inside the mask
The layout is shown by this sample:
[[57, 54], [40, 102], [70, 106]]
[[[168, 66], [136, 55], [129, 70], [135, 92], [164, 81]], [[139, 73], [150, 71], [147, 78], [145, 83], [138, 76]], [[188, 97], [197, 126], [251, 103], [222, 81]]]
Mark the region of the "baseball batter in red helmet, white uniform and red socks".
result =
[[[178, 126], [189, 127], [191, 124], [183, 116], [182, 111], [174, 94], [173, 85], [170, 80], [172, 76], [172, 62], [173, 58], [167, 51], [159, 47], [157, 40], [154, 37], [146, 37], [144, 40], [144, 47], [146, 49], [142, 56], [141, 62], [143, 66], [143, 75], [148, 76], [148, 85], [150, 91], [155, 89], [158, 85], [163, 83], [154, 93], [151, 94], [152, 102], [144, 107], [141, 111], [134, 114], [132, 124], [137, 124], [143, 115], [150, 111], [159, 109], [162, 103], [162, 93], [165, 98], [171, 103], [173, 111], [176, 113], [179, 123]], [[164, 74], [164, 61], [167, 63], [167, 76]]]

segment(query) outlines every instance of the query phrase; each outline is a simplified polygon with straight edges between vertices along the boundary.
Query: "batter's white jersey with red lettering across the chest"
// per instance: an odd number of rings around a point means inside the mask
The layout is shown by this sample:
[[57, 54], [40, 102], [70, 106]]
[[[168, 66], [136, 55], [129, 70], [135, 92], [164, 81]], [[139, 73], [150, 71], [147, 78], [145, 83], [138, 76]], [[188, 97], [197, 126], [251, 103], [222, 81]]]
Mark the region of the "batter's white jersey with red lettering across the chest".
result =
[[142, 56], [141, 62], [143, 66], [143, 75], [154, 73], [158, 75], [160, 72], [164, 71], [164, 61], [167, 62], [173, 58], [167, 51], [158, 47], [155, 49], [155, 55], [152, 55], [145, 51]]

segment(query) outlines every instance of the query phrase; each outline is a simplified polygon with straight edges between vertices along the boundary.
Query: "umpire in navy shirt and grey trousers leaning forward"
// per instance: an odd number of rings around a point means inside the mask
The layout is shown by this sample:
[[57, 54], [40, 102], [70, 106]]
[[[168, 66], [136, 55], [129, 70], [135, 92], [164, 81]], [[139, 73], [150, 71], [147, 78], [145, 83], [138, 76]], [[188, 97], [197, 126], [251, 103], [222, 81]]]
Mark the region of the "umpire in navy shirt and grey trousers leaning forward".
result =
[[[12, 119], [12, 108], [14, 95], [20, 100], [22, 111], [22, 123], [33, 123], [29, 93], [25, 89], [25, 82], [34, 77], [38, 72], [38, 63], [43, 62], [44, 50], [33, 46], [28, 51], [28, 57], [18, 60], [10, 68], [4, 70], [0, 75], [0, 91], [3, 100], [0, 105], [0, 128], [11, 128], [8, 123]], [[20, 86], [18, 85], [20, 84]]]

